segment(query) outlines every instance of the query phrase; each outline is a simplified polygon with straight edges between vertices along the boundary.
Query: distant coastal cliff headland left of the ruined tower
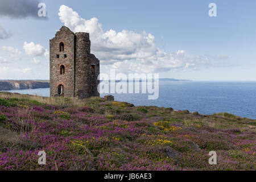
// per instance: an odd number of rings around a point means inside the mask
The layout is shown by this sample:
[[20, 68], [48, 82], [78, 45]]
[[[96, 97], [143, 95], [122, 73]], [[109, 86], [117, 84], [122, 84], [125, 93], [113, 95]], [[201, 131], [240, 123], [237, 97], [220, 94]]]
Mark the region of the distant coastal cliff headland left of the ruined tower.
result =
[[49, 88], [49, 82], [42, 81], [0, 81], [0, 90], [22, 90]]

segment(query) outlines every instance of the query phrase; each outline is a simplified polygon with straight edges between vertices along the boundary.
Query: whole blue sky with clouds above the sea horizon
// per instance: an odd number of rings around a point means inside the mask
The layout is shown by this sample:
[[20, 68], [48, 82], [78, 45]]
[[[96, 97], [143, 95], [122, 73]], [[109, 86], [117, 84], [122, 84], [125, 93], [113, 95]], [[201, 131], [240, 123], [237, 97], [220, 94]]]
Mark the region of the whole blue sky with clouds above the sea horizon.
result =
[[49, 39], [67, 26], [90, 33], [101, 73], [255, 81], [255, 8], [254, 0], [0, 0], [0, 80], [49, 79]]

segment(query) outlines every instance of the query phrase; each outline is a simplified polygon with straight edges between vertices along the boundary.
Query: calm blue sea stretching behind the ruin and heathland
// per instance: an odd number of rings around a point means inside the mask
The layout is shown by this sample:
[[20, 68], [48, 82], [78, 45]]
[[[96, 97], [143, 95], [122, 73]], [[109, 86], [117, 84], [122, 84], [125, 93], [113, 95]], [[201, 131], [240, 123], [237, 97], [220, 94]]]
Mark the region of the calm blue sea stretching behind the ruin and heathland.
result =
[[[49, 96], [49, 88], [10, 92]], [[112, 95], [117, 101], [134, 105], [173, 107], [201, 114], [227, 112], [256, 119], [256, 82], [159, 81], [157, 100], [148, 100], [147, 94]]]

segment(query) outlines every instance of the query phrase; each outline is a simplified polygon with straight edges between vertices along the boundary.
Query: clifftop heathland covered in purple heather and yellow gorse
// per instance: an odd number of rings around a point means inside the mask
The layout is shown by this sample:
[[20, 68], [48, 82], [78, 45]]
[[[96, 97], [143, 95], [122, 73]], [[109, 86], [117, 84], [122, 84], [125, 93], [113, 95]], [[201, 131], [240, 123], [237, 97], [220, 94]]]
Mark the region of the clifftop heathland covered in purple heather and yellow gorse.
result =
[[228, 113], [0, 93], [0, 170], [255, 170], [255, 125]]

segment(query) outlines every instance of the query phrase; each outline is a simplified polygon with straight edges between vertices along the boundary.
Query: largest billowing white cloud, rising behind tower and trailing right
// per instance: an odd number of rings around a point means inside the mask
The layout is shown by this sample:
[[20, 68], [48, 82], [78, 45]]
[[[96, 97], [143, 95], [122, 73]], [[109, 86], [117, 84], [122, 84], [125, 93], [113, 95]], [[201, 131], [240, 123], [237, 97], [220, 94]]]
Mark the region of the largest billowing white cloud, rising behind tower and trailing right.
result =
[[121, 72], [164, 72], [210, 65], [206, 56], [191, 55], [183, 50], [160, 50], [155, 45], [155, 37], [145, 31], [104, 31], [97, 18], [83, 19], [65, 5], [60, 6], [59, 16], [61, 22], [72, 31], [90, 33], [92, 53], [101, 60], [101, 68], [104, 69], [117, 68]]

